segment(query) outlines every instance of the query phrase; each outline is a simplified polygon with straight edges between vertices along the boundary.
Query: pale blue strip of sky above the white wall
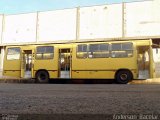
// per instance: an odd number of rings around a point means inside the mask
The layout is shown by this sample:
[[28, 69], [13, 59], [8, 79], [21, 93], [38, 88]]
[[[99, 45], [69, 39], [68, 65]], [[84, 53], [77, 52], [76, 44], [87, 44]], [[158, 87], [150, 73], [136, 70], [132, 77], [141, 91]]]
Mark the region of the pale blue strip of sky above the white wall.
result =
[[0, 0], [0, 14], [20, 14], [140, 0]]

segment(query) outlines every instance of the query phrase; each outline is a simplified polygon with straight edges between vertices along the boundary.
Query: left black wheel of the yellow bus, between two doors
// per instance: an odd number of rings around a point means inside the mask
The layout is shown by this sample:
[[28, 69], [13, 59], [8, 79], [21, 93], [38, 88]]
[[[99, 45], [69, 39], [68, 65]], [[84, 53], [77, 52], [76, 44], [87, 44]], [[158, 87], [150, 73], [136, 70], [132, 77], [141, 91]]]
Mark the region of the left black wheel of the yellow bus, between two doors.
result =
[[38, 71], [36, 74], [36, 82], [39, 83], [48, 83], [49, 82], [49, 75], [47, 71]]

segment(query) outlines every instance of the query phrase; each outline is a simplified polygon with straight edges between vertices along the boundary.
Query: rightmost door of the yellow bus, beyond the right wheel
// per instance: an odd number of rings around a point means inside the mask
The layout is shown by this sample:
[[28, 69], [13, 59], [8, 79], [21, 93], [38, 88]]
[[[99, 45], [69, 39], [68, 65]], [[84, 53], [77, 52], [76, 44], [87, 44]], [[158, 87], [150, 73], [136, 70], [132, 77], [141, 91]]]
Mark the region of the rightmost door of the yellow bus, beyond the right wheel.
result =
[[138, 72], [139, 79], [150, 78], [150, 48], [149, 46], [138, 47]]

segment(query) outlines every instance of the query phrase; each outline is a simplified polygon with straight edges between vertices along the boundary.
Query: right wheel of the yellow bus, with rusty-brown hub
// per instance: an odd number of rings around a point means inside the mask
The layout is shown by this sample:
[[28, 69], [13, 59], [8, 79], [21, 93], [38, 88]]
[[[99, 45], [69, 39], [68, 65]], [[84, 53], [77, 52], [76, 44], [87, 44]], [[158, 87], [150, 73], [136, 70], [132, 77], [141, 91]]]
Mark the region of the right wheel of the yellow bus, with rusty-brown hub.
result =
[[120, 84], [127, 84], [132, 80], [132, 73], [128, 70], [121, 70], [116, 74], [116, 82]]

